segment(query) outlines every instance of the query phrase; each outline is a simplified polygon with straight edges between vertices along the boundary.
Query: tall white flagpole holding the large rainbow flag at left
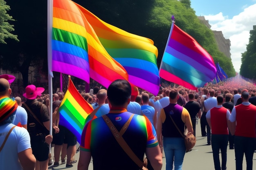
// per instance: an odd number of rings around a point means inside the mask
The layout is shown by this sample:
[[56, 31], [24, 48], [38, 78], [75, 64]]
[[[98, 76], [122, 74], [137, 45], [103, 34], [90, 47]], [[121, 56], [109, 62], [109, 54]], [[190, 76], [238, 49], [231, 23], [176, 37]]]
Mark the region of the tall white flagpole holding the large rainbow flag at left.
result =
[[[47, 0], [47, 61], [48, 61], [48, 93], [50, 98], [50, 135], [52, 135], [52, 13], [53, 0]], [[51, 147], [49, 147], [51, 150]]]

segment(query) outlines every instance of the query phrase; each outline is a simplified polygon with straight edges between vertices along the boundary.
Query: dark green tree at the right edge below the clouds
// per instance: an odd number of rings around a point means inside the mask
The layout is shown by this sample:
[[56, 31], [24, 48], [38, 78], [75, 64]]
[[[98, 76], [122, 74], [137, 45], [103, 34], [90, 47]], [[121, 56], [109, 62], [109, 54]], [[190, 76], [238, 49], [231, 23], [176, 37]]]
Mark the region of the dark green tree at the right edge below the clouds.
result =
[[256, 29], [250, 32], [249, 44], [242, 53], [240, 74], [249, 79], [256, 78]]

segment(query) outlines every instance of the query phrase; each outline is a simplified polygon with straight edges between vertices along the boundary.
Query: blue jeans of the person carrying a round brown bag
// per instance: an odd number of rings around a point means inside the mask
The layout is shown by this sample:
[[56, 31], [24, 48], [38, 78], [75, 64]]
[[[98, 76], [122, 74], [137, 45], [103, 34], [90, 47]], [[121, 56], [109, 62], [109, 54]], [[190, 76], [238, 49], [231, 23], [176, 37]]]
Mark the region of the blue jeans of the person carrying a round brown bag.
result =
[[164, 137], [164, 153], [166, 157], [166, 170], [182, 170], [182, 163], [186, 153], [186, 146], [182, 137]]

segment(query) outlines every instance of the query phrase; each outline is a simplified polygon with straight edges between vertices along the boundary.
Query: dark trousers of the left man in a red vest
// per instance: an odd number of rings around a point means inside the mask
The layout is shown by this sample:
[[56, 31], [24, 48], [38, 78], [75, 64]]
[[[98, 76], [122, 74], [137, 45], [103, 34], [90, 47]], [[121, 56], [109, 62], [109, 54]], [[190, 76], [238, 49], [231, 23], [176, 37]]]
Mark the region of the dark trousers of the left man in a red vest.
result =
[[[215, 170], [227, 169], [227, 143], [229, 135], [211, 135], [211, 148], [213, 151], [213, 162]], [[220, 168], [220, 156], [221, 152], [221, 168]]]

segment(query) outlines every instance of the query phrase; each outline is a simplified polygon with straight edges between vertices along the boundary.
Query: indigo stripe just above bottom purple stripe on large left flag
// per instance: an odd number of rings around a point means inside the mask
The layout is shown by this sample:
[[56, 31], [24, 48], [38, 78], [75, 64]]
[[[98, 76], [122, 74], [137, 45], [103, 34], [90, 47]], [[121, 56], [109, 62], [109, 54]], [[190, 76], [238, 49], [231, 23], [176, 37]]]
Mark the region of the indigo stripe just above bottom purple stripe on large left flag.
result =
[[[80, 68], [83, 68], [87, 71], [89, 71], [89, 63], [87, 60], [78, 57], [76, 55], [68, 54], [68, 53], [63, 53], [61, 51], [52, 51], [52, 60], [59, 61], [62, 63], [67, 63], [70, 65], [74, 65]], [[67, 69], [67, 68], [65, 68]]]

